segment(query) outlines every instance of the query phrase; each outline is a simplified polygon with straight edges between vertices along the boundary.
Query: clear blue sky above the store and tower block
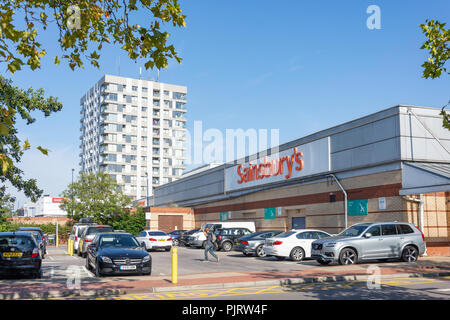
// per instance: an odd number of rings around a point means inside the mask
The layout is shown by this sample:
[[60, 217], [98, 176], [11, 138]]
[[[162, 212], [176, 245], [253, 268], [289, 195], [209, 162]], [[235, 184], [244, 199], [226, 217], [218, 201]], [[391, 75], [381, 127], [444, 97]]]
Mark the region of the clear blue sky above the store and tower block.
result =
[[[279, 129], [283, 143], [397, 104], [441, 107], [449, 99], [448, 75], [421, 78], [427, 54], [419, 28], [426, 19], [449, 23], [448, 0], [180, 3], [187, 26], [168, 30], [183, 62], [171, 61], [160, 81], [188, 87], [190, 130], [195, 120], [203, 130]], [[369, 5], [381, 9], [380, 30], [366, 26]], [[135, 18], [141, 25], [148, 20], [143, 13]], [[118, 73], [119, 57], [122, 76], [138, 77], [143, 62], [105, 47], [100, 70], [54, 66], [55, 37], [50, 28], [43, 38], [48, 54], [40, 70], [24, 69], [12, 79], [64, 104], [49, 118], [19, 125], [21, 137], [52, 150], [48, 157], [29, 151], [20, 166], [56, 196], [70, 183], [71, 168], [78, 170], [80, 98], [105, 73]], [[25, 197], [10, 191], [23, 205]]]

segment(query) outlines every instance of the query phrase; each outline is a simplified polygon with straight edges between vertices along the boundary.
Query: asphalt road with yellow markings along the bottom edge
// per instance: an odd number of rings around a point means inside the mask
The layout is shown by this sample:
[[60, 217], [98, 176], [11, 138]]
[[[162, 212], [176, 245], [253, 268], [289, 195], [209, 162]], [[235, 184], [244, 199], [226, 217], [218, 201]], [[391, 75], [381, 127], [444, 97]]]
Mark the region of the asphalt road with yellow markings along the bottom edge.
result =
[[450, 277], [389, 278], [369, 289], [366, 281], [324, 282], [130, 294], [102, 300], [448, 300]]

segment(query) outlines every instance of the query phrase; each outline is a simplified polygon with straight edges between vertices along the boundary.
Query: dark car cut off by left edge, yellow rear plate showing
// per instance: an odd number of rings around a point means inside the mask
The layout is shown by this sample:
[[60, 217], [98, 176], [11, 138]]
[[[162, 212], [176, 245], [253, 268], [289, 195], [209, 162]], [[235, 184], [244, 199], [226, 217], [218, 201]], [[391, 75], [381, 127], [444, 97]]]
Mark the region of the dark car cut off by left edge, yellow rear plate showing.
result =
[[0, 232], [0, 273], [41, 277], [39, 245], [29, 232]]

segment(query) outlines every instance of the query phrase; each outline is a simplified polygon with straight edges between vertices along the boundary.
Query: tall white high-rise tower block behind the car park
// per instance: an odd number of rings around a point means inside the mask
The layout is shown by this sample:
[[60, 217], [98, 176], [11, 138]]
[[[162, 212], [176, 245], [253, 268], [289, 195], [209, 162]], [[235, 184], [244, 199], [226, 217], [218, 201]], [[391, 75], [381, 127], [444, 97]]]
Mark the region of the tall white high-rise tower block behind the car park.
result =
[[184, 86], [105, 75], [81, 99], [81, 172], [103, 171], [132, 199], [185, 169]]

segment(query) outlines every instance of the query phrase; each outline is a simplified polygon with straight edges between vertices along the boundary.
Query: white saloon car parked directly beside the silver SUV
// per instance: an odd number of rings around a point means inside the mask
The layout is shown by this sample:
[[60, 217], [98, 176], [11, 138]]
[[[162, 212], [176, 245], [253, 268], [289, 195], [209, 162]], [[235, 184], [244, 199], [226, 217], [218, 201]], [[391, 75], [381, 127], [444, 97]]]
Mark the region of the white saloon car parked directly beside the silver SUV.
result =
[[313, 241], [328, 237], [331, 235], [321, 230], [293, 229], [266, 239], [263, 248], [267, 256], [275, 257], [278, 260], [291, 258], [293, 261], [301, 261], [311, 257]]

